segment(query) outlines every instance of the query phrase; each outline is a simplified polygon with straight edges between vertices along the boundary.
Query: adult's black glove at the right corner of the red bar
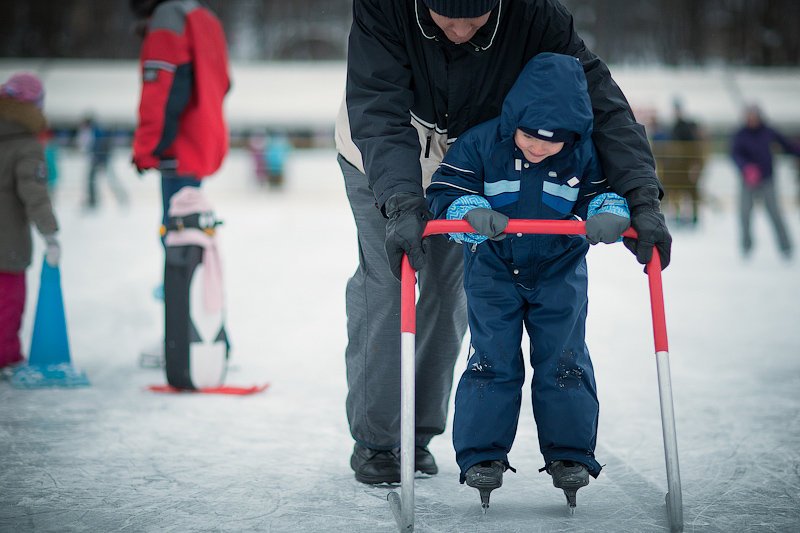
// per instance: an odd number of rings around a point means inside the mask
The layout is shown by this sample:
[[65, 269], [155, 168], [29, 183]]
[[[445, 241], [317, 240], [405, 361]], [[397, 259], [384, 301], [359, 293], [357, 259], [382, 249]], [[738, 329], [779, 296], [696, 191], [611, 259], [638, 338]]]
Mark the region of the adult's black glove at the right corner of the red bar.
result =
[[[631, 210], [631, 225], [638, 233], [638, 239], [625, 237], [625, 247], [636, 255], [636, 260], [643, 265], [650, 262], [653, 246], [661, 257], [661, 269], [669, 265], [672, 236], [669, 234], [664, 215], [661, 214], [656, 187], [638, 187], [625, 195]], [[646, 269], [645, 269], [646, 270]]]

